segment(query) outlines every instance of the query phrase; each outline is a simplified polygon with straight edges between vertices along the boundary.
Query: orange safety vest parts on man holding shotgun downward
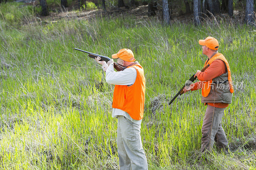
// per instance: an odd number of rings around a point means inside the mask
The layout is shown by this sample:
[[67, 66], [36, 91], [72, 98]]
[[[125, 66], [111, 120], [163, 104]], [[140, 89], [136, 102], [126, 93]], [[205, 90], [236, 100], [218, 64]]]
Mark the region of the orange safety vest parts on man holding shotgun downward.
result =
[[[224, 57], [224, 55], [222, 55], [221, 53], [217, 53], [214, 56], [212, 56], [212, 58], [207, 62], [207, 60], [204, 63], [204, 67], [207, 64], [212, 64], [212, 62], [214, 60], [220, 59], [222, 61], [224, 61], [226, 63], [227, 69], [228, 69], [228, 82], [230, 85], [230, 92], [233, 93], [234, 92], [234, 87], [233, 87], [233, 83], [232, 83], [232, 79], [231, 79], [231, 72], [230, 72], [230, 68], [228, 65], [228, 61], [226, 60], [226, 58]], [[211, 90], [211, 84], [212, 84], [212, 80], [203, 82], [203, 88], [202, 88], [202, 96], [207, 97], [210, 90]]]

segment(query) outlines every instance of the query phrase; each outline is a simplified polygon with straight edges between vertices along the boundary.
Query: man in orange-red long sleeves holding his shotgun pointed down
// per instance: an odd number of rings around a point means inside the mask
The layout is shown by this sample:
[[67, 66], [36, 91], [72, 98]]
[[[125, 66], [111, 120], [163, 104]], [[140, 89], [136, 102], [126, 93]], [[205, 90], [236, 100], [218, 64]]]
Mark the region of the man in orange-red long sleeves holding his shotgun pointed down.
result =
[[219, 42], [213, 37], [199, 40], [203, 54], [208, 56], [204, 66], [210, 66], [196, 75], [199, 82], [184, 88], [184, 92], [202, 89], [202, 103], [207, 105], [202, 125], [201, 151], [207, 154], [212, 151], [214, 141], [225, 153], [229, 152], [228, 140], [221, 125], [224, 110], [231, 103], [234, 88], [228, 61], [218, 53]]

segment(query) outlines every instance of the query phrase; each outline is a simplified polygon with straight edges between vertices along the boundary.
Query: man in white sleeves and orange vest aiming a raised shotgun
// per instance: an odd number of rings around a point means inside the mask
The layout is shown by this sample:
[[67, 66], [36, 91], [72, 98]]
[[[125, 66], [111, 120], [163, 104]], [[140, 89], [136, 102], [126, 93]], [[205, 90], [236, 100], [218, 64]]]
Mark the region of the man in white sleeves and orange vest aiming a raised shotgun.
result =
[[148, 162], [142, 148], [140, 124], [143, 118], [145, 101], [144, 70], [130, 49], [121, 49], [112, 58], [127, 67], [122, 71], [114, 71], [113, 59], [100, 61], [106, 71], [106, 82], [115, 85], [113, 94], [112, 117], [117, 118], [117, 153], [119, 167], [123, 169], [148, 169]]

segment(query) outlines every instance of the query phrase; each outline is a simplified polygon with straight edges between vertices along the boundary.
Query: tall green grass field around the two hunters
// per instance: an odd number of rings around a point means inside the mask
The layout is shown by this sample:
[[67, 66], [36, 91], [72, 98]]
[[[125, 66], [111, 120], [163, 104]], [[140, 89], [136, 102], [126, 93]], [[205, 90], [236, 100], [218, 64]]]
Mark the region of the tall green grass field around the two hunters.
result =
[[[141, 138], [149, 169], [256, 168], [255, 28], [225, 20], [162, 26], [125, 15], [45, 23], [17, 3], [0, 11], [0, 169], [118, 169], [114, 86], [74, 48], [109, 57], [130, 48], [144, 67]], [[235, 84], [222, 121], [232, 153], [214, 148], [198, 164], [201, 91], [168, 102], [203, 68], [198, 40], [207, 36], [219, 40]]]

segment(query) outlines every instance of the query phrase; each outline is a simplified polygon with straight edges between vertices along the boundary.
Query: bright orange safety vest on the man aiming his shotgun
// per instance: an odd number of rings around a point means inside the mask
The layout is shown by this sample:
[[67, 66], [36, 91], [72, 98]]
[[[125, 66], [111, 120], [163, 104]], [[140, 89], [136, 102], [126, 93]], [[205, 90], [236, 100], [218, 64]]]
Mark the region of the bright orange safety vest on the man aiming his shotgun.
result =
[[140, 120], [143, 118], [146, 90], [144, 70], [139, 63], [129, 67], [137, 71], [135, 82], [131, 86], [115, 85], [112, 107], [127, 112], [132, 119]]

